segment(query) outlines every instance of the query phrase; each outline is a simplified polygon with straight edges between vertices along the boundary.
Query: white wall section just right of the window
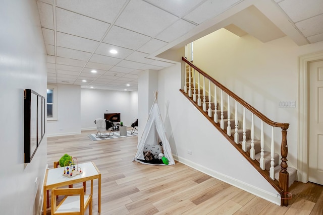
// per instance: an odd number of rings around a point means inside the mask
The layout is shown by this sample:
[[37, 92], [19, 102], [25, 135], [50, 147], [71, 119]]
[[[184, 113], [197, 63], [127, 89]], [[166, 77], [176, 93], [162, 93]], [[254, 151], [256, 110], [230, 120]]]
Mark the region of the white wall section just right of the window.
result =
[[57, 85], [57, 121], [47, 121], [47, 136], [63, 136], [81, 133], [81, 87]]

